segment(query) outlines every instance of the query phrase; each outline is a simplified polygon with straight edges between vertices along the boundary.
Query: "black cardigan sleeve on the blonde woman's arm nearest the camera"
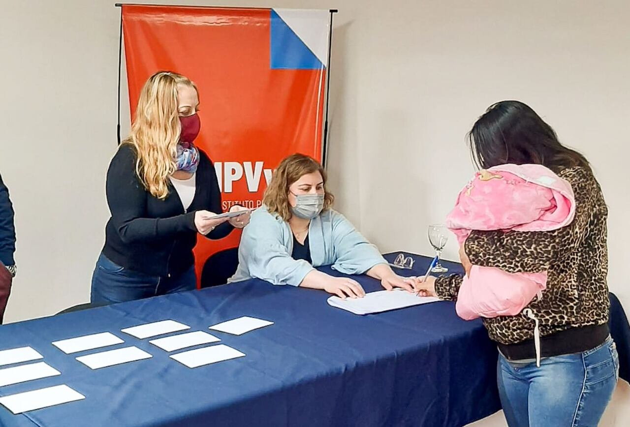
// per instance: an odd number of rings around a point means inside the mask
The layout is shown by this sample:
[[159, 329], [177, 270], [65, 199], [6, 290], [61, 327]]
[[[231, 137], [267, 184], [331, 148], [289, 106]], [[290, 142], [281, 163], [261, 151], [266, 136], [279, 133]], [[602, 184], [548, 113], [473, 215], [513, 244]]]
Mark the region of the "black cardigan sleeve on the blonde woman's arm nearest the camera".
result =
[[151, 241], [197, 231], [195, 212], [170, 218], [147, 218], [147, 190], [135, 172], [135, 149], [121, 145], [110, 163], [106, 183], [112, 223], [123, 242]]

